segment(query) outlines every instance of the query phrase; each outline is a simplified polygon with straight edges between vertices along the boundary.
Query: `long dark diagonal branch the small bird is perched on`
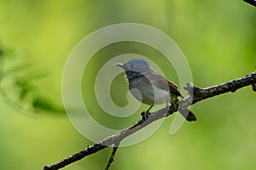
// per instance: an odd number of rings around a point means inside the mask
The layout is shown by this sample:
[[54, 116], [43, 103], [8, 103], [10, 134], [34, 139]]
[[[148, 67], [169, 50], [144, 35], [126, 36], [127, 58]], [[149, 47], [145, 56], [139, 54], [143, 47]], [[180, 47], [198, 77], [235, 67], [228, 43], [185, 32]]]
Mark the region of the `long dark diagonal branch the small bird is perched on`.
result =
[[[209, 88], [197, 88], [191, 82], [187, 83], [187, 87], [185, 89], [189, 92], [189, 97], [181, 99], [176, 104], [170, 106], [169, 111], [166, 109], [161, 109], [159, 111], [155, 111], [154, 113], [148, 116], [146, 120], [140, 120], [131, 127], [128, 127], [119, 133], [116, 133], [107, 139], [103, 139], [102, 141], [91, 145], [90, 147], [79, 151], [78, 153], [74, 154], [73, 156], [69, 156], [66, 159], [59, 161], [53, 165], [45, 166], [44, 170], [56, 170], [60, 169], [61, 167], [65, 167], [74, 161], [79, 161], [80, 159], [84, 158], [84, 156], [89, 156], [91, 154], [96, 153], [99, 150], [103, 150], [112, 144], [119, 144], [122, 139], [125, 139], [127, 136], [131, 135], [132, 133], [136, 133], [143, 127], [148, 126], [150, 123], [159, 120], [160, 118], [172, 115], [172, 113], [177, 111], [178, 106], [182, 106], [183, 108], [188, 107], [189, 105], [194, 105], [195, 103], [217, 96], [219, 94], [225, 94], [228, 92], [236, 92], [237, 89], [243, 88], [249, 85], [253, 85], [256, 83], [256, 71], [246, 75], [245, 77], [237, 78], [230, 82], [224, 82], [222, 84], [212, 86]], [[254, 87], [255, 85], [253, 85]], [[253, 88], [254, 89], [254, 88]], [[117, 149], [117, 148], [116, 148]], [[113, 150], [112, 156], [115, 154], [115, 150]], [[112, 157], [111, 156], [111, 157]], [[111, 159], [110, 157], [110, 159]], [[111, 161], [111, 160], [110, 160]], [[112, 162], [112, 161], [111, 161]], [[110, 163], [111, 163], [110, 162]]]

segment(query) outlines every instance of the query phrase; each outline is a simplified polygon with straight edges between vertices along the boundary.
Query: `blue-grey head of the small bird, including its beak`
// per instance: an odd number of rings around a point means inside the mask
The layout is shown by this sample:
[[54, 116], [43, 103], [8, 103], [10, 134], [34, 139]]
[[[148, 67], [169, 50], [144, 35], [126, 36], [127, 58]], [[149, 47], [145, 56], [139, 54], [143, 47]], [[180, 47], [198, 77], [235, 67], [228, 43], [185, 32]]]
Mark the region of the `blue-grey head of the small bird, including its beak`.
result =
[[116, 65], [122, 67], [125, 71], [135, 71], [139, 73], [144, 73], [147, 71], [152, 71], [152, 68], [150, 65], [148, 65], [148, 62], [144, 59], [131, 59], [125, 64], [117, 63]]

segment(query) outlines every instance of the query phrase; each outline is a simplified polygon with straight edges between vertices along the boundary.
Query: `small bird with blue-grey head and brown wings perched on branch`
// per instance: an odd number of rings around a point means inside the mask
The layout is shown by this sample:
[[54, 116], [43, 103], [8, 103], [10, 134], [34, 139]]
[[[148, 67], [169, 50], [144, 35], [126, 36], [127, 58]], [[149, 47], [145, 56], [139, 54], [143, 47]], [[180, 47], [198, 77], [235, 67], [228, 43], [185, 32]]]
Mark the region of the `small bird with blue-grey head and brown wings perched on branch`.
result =
[[[144, 111], [144, 119], [148, 118], [154, 105], [166, 104], [166, 110], [169, 110], [169, 104], [177, 103], [178, 97], [184, 98], [174, 82], [168, 81], [144, 59], [134, 58], [115, 65], [124, 69], [131, 94], [143, 104], [150, 105], [148, 110]], [[178, 111], [187, 121], [196, 121], [196, 116], [189, 109], [179, 108]]]

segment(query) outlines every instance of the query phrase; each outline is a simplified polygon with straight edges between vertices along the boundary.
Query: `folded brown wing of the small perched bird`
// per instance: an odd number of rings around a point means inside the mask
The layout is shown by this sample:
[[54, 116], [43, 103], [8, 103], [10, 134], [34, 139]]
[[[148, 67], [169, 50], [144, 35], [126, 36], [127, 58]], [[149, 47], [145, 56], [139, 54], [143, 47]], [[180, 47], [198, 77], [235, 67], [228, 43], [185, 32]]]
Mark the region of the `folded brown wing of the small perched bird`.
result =
[[170, 91], [171, 94], [182, 96], [177, 90], [177, 85], [174, 82], [166, 80], [159, 72], [150, 72], [145, 74], [146, 77], [154, 84], [157, 88]]

